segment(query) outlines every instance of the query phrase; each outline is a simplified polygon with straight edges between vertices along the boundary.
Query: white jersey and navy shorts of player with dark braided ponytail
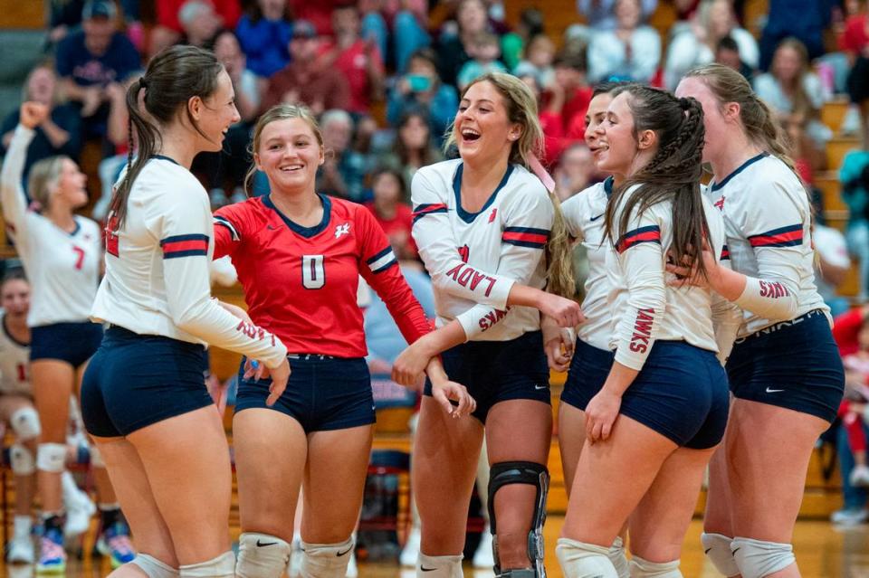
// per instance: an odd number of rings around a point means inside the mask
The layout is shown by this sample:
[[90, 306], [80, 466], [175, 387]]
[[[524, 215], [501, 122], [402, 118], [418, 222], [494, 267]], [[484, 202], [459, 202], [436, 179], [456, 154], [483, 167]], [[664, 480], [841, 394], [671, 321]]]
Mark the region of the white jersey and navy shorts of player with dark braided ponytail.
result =
[[[615, 223], [638, 185], [616, 207]], [[711, 247], [721, 255], [721, 215], [704, 202]], [[672, 203], [654, 204], [629, 218], [615, 251], [606, 253], [610, 348], [616, 362], [639, 372], [627, 388], [620, 412], [679, 446], [706, 449], [724, 435], [729, 409], [727, 377], [716, 356], [713, 317], [734, 308], [707, 289], [667, 285], [667, 252], [673, 242]]]

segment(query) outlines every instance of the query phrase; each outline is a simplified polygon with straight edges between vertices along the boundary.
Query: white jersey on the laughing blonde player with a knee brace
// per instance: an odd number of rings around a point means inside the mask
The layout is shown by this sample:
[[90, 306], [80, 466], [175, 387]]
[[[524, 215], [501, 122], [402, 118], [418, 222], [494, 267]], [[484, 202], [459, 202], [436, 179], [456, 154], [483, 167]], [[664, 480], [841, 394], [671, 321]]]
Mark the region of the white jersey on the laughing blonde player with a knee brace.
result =
[[432, 276], [439, 326], [458, 319], [469, 340], [505, 341], [540, 328], [535, 308], [507, 308], [513, 283], [543, 289], [554, 209], [543, 184], [511, 165], [477, 213], [462, 208], [461, 159], [414, 175], [413, 235]]

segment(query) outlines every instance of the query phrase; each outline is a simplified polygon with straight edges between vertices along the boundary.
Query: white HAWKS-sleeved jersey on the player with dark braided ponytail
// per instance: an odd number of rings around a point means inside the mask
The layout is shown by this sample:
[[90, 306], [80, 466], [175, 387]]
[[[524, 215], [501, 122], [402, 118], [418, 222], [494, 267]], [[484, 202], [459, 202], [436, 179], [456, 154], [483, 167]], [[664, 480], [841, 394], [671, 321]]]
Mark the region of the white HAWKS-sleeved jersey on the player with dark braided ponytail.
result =
[[[638, 187], [632, 186], [622, 197], [615, 223], [619, 223], [620, 209]], [[715, 254], [726, 256], [721, 214], [705, 199], [703, 207], [711, 248]], [[615, 251], [606, 253], [613, 319], [610, 348], [616, 349], [616, 361], [642, 369], [658, 339], [681, 340], [718, 353], [713, 321], [713, 308], [717, 308], [715, 295], [698, 287], [667, 285], [667, 281], [673, 280], [673, 275], [665, 270], [667, 252], [673, 242], [672, 203], [654, 204], [638, 217], [636, 213], [635, 207]]]

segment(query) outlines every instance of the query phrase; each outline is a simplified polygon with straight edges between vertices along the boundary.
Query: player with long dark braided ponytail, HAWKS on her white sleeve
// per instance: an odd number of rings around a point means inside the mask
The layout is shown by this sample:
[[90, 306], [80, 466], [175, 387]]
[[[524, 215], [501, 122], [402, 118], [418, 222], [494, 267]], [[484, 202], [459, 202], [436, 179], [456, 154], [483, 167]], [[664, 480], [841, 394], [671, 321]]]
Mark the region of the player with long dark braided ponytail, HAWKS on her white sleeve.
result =
[[587, 402], [587, 443], [556, 553], [569, 578], [616, 578], [608, 554], [630, 516], [630, 575], [676, 578], [728, 392], [711, 291], [668, 288], [664, 265], [700, 259], [704, 242], [721, 253], [724, 226], [700, 191], [697, 101], [627, 86], [597, 130], [599, 168], [623, 179], [602, 217], [615, 249], [606, 271], [616, 354]]

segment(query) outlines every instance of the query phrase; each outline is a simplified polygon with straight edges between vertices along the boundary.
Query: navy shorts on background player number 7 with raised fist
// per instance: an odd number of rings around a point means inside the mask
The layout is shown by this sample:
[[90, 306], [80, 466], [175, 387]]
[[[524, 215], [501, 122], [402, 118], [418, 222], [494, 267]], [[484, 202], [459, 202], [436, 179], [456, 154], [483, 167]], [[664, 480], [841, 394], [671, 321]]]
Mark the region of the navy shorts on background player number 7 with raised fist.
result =
[[91, 359], [102, 341], [99, 323], [53, 323], [30, 330], [30, 360], [60, 359], [73, 367]]

